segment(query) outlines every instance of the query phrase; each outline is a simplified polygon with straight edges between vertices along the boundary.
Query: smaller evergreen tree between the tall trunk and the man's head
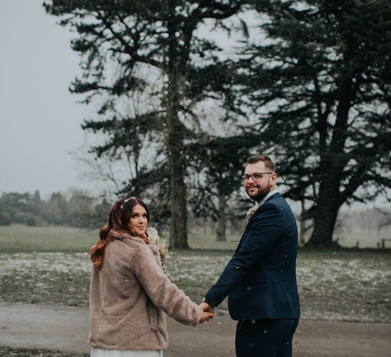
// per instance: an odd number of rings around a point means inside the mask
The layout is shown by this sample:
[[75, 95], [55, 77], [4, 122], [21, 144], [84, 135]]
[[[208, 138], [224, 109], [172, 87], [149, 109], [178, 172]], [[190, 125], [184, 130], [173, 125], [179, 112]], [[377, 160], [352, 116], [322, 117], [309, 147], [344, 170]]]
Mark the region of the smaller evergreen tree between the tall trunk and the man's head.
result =
[[[216, 238], [226, 240], [227, 221], [235, 225], [237, 219], [243, 221], [243, 212], [248, 209], [248, 200], [241, 202], [242, 188], [240, 176], [249, 152], [260, 147], [258, 135], [210, 136], [197, 143], [197, 156], [191, 164], [192, 191], [190, 206], [195, 217], [204, 217], [217, 222]], [[193, 193], [193, 194], [191, 194]], [[240, 202], [232, 205], [232, 202]]]

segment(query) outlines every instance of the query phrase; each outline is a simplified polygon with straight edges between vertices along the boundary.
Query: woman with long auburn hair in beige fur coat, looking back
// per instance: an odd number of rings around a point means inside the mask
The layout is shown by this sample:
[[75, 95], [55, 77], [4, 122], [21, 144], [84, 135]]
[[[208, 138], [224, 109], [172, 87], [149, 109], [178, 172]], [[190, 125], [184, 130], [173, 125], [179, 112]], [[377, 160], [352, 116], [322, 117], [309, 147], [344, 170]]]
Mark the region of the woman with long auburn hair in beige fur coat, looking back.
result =
[[122, 198], [91, 249], [92, 357], [161, 357], [168, 346], [165, 314], [192, 326], [214, 316], [163, 273], [167, 249], [148, 221], [141, 199]]

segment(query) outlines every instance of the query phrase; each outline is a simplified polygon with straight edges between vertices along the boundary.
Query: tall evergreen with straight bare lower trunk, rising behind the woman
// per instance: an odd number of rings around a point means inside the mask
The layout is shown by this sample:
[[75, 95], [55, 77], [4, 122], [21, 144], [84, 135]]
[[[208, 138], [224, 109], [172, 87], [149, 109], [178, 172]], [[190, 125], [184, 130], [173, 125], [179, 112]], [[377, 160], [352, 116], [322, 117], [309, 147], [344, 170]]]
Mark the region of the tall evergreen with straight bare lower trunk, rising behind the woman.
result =
[[[207, 21], [221, 24], [237, 14], [242, 1], [184, 0], [53, 0], [46, 11], [61, 18], [76, 34], [72, 48], [82, 57], [83, 75], [71, 87], [98, 96], [100, 120], [83, 126], [104, 133], [106, 141], [93, 151], [144, 157], [144, 164], [127, 194], [164, 181], [169, 185], [171, 239], [187, 244], [187, 189], [189, 143], [202, 136], [197, 109], [208, 99], [230, 106], [230, 66], [219, 60], [218, 46], [197, 35]], [[137, 97], [142, 104], [134, 110]], [[154, 142], [152, 160], [145, 162], [145, 144]], [[144, 155], [141, 155], [144, 154]], [[159, 192], [155, 192], [158, 196]]]

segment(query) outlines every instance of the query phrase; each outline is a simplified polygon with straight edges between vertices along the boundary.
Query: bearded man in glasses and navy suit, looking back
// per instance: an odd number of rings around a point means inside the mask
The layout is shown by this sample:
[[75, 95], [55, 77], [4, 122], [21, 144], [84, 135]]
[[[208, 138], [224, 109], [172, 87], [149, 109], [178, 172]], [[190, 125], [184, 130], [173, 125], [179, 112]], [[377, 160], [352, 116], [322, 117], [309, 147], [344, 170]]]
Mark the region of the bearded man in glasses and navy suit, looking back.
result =
[[296, 284], [297, 225], [276, 189], [275, 164], [267, 155], [247, 159], [242, 176], [247, 195], [258, 202], [235, 254], [201, 304], [213, 311], [228, 296], [238, 320], [237, 357], [290, 357], [300, 317]]

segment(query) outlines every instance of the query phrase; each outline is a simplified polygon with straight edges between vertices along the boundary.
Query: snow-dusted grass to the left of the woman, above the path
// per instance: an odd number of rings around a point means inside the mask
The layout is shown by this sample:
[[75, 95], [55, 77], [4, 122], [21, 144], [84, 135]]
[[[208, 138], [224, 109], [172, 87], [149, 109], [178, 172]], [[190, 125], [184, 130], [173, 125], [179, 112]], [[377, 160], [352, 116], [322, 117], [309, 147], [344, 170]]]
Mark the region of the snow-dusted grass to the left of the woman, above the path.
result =
[[4, 301], [88, 304], [88, 253], [3, 253], [0, 270]]

